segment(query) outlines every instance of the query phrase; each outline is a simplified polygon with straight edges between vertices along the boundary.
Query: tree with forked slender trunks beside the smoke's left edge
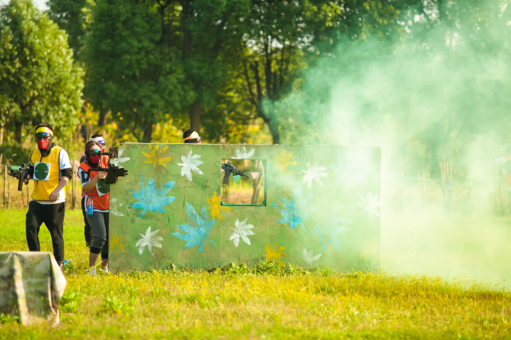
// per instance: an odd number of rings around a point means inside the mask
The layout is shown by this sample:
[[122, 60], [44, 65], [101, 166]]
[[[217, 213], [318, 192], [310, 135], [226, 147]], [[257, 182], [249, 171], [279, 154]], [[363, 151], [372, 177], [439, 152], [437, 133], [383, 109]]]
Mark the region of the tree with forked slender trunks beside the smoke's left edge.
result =
[[300, 89], [297, 79], [307, 64], [331, 55], [346, 37], [385, 35], [388, 21], [396, 15], [392, 4], [383, 1], [251, 1], [237, 57], [246, 98], [268, 124], [273, 143], [280, 142], [282, 116], [274, 103]]

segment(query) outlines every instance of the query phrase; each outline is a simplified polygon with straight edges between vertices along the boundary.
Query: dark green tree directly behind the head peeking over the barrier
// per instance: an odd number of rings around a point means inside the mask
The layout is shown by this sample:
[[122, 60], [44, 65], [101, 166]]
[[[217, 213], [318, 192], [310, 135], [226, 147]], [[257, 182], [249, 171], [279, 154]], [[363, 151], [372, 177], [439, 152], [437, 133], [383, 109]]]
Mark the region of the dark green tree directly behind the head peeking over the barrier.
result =
[[182, 30], [182, 60], [194, 100], [187, 110], [190, 128], [200, 130], [201, 116], [214, 108], [217, 89], [226, 81], [227, 56], [245, 32], [241, 29], [247, 0], [179, 1]]

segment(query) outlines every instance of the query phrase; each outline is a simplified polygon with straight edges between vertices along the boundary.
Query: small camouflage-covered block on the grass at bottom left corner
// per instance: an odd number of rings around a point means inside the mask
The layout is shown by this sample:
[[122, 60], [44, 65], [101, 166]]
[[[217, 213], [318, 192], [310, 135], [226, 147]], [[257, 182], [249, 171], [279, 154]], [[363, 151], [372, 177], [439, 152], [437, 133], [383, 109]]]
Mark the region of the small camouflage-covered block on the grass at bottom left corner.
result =
[[49, 252], [0, 252], [0, 313], [21, 324], [59, 323], [66, 280]]

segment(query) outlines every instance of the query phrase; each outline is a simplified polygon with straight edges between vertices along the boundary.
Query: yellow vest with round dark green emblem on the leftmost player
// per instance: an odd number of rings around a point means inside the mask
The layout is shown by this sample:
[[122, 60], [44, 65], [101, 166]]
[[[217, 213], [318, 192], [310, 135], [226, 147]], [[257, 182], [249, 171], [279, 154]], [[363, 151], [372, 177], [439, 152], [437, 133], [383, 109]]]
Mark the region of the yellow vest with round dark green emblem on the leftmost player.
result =
[[[52, 147], [48, 156], [42, 156], [39, 148], [32, 151], [31, 162], [34, 166], [34, 200], [50, 200], [50, 193], [53, 193], [60, 182], [60, 150], [62, 147]], [[64, 198], [67, 198], [64, 187]]]

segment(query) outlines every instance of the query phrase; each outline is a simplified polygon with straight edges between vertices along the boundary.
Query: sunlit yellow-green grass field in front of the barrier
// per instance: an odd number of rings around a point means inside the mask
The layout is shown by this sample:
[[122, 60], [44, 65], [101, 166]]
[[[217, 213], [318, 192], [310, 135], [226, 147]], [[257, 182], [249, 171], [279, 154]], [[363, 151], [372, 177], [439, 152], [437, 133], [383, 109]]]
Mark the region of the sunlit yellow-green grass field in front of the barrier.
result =
[[[0, 251], [26, 250], [24, 210], [0, 210]], [[51, 251], [41, 228], [42, 249]], [[85, 275], [82, 215], [67, 212], [58, 327], [0, 317], [0, 339], [511, 339], [511, 295], [438, 277], [282, 270]]]

